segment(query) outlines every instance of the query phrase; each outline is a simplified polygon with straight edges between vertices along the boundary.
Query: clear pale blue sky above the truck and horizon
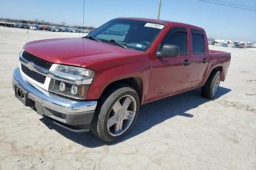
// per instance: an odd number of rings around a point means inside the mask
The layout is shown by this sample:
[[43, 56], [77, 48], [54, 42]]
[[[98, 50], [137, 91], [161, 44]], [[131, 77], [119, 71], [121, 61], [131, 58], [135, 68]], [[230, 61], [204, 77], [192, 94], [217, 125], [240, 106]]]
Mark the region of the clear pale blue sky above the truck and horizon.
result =
[[[200, 0], [163, 0], [160, 18], [203, 27], [209, 37], [256, 41], [256, 0], [206, 0], [242, 4], [249, 10]], [[0, 18], [22, 18], [82, 25], [83, 0], [0, 0]], [[234, 5], [231, 6], [234, 6]], [[85, 0], [85, 26], [112, 18], [157, 18], [158, 0]]]

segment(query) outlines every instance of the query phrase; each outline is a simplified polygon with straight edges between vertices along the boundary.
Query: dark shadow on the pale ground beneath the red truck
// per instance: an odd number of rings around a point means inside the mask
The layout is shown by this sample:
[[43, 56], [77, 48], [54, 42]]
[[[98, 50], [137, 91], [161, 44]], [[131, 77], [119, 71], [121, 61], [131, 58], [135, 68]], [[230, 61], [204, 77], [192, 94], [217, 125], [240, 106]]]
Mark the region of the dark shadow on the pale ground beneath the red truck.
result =
[[[220, 98], [220, 96], [225, 95], [230, 91], [231, 89], [219, 87], [215, 99]], [[208, 101], [210, 100], [200, 96], [200, 89], [194, 89], [180, 95], [175, 95], [170, 98], [164, 98], [160, 101], [145, 104], [144, 106], [141, 106], [137, 121], [128, 135], [115, 143], [104, 143], [98, 138], [94, 137], [91, 132], [70, 132], [52, 123], [47, 118], [42, 118], [41, 121], [42, 123], [45, 123], [49, 129], [56, 130], [61, 135], [67, 137], [70, 140], [73, 140], [74, 142], [85, 147], [95, 148], [103, 145], [114, 145], [116, 143], [128, 140], [129, 138], [140, 135], [148, 129], [151, 129], [151, 127], [156, 126], [157, 124], [175, 116], [193, 118], [194, 115], [197, 114], [196, 112], [193, 113], [193, 115], [186, 112]]]

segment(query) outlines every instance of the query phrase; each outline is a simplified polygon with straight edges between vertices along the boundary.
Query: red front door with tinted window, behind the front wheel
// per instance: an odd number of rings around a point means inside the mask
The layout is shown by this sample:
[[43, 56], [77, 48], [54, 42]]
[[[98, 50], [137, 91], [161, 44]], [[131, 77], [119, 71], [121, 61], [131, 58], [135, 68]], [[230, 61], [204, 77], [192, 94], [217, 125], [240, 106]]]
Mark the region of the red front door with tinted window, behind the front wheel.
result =
[[189, 77], [188, 33], [186, 28], [173, 27], [163, 38], [163, 44], [173, 44], [180, 48], [177, 57], [160, 58], [152, 61], [151, 78], [146, 100], [154, 100], [186, 89]]

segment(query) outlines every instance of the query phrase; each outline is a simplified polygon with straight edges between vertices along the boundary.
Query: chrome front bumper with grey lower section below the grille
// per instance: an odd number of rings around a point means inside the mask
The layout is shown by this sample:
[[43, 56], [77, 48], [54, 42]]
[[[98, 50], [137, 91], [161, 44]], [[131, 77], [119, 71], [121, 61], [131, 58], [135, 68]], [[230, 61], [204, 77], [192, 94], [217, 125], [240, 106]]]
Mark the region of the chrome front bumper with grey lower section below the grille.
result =
[[[67, 125], [65, 128], [74, 132], [88, 131], [97, 101], [79, 101], [63, 98], [47, 92], [45, 89], [37, 89], [22, 78], [19, 68], [16, 68], [13, 72], [13, 89], [16, 89], [16, 86], [27, 92], [29, 106], [35, 107], [39, 115], [57, 120], [57, 124], [62, 127]], [[82, 126], [86, 128], [79, 128]]]

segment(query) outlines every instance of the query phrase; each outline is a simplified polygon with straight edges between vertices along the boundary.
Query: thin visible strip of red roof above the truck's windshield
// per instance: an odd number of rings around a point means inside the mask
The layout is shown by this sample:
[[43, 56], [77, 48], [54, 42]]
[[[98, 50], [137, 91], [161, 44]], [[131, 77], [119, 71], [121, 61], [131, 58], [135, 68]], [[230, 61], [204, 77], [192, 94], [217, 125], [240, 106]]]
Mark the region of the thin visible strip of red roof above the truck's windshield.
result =
[[153, 19], [153, 18], [133, 18], [133, 17], [120, 17], [120, 19], [131, 19], [131, 20], [139, 20], [139, 21], [148, 21], [148, 22], [154, 22], [158, 24], [174, 24], [180, 27], [193, 27], [197, 30], [203, 30], [201, 27], [197, 27], [191, 24], [185, 24], [185, 23], [180, 23], [180, 22], [174, 22], [174, 21], [166, 21], [166, 20], [161, 20], [161, 19]]

